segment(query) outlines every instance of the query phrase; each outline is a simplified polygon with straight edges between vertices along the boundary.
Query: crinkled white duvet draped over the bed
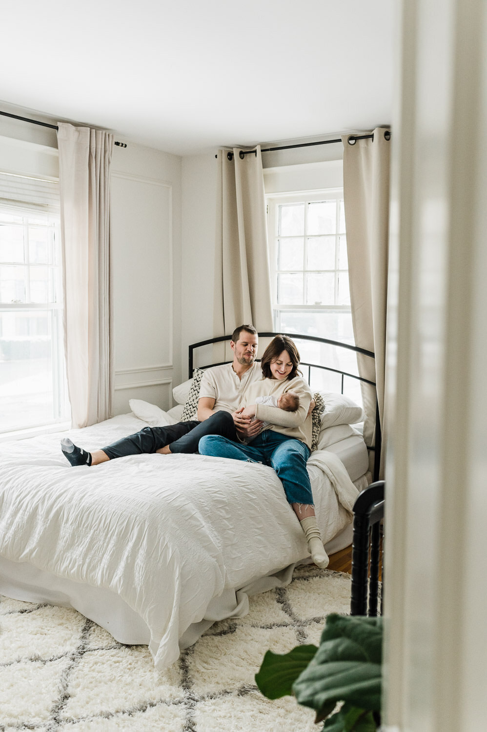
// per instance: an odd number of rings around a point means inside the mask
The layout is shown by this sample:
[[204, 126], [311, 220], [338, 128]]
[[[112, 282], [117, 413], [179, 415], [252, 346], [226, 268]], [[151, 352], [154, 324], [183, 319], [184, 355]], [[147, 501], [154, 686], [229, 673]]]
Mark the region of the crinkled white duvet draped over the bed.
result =
[[[144, 426], [124, 415], [69, 435], [95, 449]], [[326, 543], [351, 520], [358, 491], [330, 452], [314, 452], [308, 471]], [[119, 594], [164, 668], [205, 618], [245, 612], [237, 590], [308, 550], [272, 468], [201, 455], [73, 468], [51, 435], [0, 446], [0, 556]]]

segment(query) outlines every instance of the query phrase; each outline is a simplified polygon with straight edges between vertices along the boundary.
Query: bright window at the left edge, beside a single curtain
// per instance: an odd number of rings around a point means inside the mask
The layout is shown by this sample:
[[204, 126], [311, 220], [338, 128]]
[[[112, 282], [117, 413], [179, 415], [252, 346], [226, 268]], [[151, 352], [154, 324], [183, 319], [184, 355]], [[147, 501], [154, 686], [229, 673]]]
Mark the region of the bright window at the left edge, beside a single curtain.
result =
[[70, 416], [58, 188], [0, 173], [0, 433]]

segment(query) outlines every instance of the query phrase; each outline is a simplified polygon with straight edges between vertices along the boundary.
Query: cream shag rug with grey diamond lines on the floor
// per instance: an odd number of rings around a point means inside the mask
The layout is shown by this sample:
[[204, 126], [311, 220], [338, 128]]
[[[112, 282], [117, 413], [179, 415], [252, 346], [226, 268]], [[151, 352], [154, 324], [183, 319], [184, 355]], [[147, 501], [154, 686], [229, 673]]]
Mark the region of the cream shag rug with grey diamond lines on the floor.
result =
[[319, 644], [325, 617], [349, 613], [350, 575], [295, 570], [215, 623], [166, 671], [147, 646], [124, 646], [76, 610], [0, 597], [0, 730], [308, 732], [314, 712], [256, 687], [265, 651]]

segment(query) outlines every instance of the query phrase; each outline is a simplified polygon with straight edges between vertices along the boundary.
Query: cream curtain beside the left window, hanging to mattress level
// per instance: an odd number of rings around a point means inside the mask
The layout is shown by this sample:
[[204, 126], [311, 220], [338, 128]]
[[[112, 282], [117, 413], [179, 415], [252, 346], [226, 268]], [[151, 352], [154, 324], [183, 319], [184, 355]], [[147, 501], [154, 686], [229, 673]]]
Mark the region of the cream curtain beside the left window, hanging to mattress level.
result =
[[64, 351], [73, 427], [111, 417], [109, 269], [113, 135], [59, 123]]

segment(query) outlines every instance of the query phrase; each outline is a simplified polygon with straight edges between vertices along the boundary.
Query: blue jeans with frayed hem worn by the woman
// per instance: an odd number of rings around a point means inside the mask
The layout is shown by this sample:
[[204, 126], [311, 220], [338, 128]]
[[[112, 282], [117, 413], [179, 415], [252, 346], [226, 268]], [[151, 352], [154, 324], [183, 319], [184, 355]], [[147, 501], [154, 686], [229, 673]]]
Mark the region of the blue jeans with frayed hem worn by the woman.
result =
[[278, 474], [290, 504], [313, 505], [311, 482], [306, 470], [310, 449], [301, 440], [286, 437], [274, 430], [264, 430], [250, 445], [242, 445], [219, 435], [207, 435], [199, 441], [198, 452], [215, 458], [264, 463]]

